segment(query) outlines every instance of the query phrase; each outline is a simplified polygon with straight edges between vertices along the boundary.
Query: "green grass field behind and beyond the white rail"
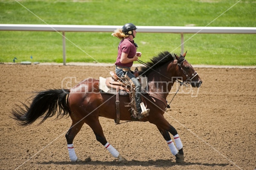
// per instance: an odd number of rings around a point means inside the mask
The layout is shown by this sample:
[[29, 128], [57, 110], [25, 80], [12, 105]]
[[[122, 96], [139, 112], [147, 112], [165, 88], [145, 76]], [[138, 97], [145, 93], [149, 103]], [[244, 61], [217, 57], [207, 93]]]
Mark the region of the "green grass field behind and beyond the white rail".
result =
[[[256, 0], [0, 0], [1, 24], [207, 26], [214, 20], [209, 26], [256, 27], [255, 18]], [[192, 64], [256, 65], [256, 35], [192, 36], [184, 35]], [[66, 32], [66, 37], [72, 42], [66, 41], [67, 62], [116, 60], [119, 40], [110, 32]], [[134, 40], [143, 61], [164, 50], [180, 53], [180, 34], [138, 32]], [[16, 62], [62, 62], [62, 37], [58, 32], [1, 31], [0, 51], [0, 62], [15, 57]]]

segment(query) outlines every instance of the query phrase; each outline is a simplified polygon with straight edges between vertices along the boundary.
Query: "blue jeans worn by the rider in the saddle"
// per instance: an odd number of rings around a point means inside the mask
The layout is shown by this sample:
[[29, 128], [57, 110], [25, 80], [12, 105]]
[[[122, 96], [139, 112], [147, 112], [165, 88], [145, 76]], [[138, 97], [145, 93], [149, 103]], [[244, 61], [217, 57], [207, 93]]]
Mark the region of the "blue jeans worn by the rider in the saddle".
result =
[[138, 81], [137, 78], [135, 78], [135, 76], [131, 73], [131, 72], [125, 72], [122, 69], [118, 69], [116, 67], [116, 75], [118, 77], [125, 77], [125, 74], [131, 79], [131, 81], [134, 83], [135, 85], [135, 102], [136, 102], [136, 107], [137, 107], [137, 111], [139, 113], [142, 112], [141, 108], [140, 108], [140, 103], [141, 103], [141, 85], [140, 82]]

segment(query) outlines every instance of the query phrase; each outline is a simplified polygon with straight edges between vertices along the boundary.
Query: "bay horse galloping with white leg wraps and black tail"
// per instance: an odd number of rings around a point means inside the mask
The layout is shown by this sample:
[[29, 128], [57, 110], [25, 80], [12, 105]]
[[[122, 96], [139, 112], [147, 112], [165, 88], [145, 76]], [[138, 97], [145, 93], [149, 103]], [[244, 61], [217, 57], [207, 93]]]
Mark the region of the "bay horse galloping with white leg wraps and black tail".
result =
[[[147, 108], [151, 110], [150, 114], [140, 121], [149, 121], [157, 126], [177, 163], [184, 162], [183, 145], [177, 130], [163, 116], [167, 106], [166, 98], [176, 80], [189, 83], [192, 87], [200, 87], [202, 84], [197, 72], [186, 61], [185, 55], [186, 53], [177, 56], [167, 51], [160, 52], [140, 69], [140, 75], [146, 75], [148, 78], [148, 92], [144, 93], [143, 97], [147, 100]], [[26, 126], [38, 118], [42, 118], [41, 124], [56, 113], [57, 118], [69, 115], [72, 125], [65, 137], [71, 161], [81, 161], [76, 156], [73, 140], [85, 123], [93, 130], [97, 141], [118, 158], [119, 162], [127, 164], [128, 161], [108, 143], [99, 122], [99, 116], [116, 119], [116, 98], [113, 96], [115, 95], [100, 91], [99, 80], [87, 78], [71, 89], [48, 89], [38, 92], [30, 106], [23, 103], [25, 109], [20, 106], [13, 108], [12, 118], [21, 126]], [[125, 104], [130, 102], [129, 97], [120, 95], [119, 101], [120, 120], [131, 121], [131, 111], [125, 107]], [[172, 134], [175, 144], [169, 133]]]

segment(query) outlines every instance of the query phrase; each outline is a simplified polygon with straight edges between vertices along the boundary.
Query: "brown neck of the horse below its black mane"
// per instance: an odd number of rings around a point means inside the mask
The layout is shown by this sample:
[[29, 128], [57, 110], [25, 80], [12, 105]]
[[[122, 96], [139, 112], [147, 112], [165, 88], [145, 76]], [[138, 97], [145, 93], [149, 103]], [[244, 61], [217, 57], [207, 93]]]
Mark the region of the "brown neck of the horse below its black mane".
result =
[[167, 66], [156, 69], [156, 71], [161, 74], [152, 71], [148, 75], [149, 92], [166, 99], [177, 77], [176, 67], [170, 63]]

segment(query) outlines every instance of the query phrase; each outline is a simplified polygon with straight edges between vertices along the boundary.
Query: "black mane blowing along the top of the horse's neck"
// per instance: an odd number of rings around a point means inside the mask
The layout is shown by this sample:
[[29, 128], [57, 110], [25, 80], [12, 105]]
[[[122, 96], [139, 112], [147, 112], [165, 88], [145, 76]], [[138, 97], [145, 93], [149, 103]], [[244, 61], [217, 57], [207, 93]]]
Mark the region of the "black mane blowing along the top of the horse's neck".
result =
[[[168, 51], [160, 52], [157, 56], [151, 58], [149, 62], [145, 63], [146, 66], [140, 67], [140, 75], [148, 75], [150, 72], [156, 70], [158, 67], [163, 66], [166, 63], [170, 63], [170, 61], [173, 61], [174, 58], [174, 55], [172, 55]], [[178, 62], [181, 62], [183, 60], [184, 58], [181, 56]]]

